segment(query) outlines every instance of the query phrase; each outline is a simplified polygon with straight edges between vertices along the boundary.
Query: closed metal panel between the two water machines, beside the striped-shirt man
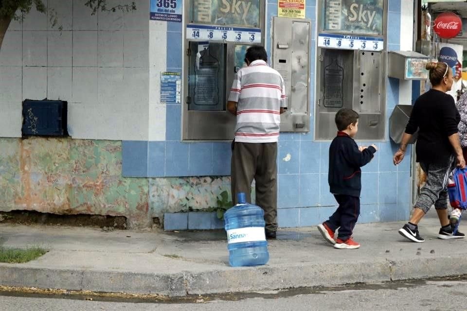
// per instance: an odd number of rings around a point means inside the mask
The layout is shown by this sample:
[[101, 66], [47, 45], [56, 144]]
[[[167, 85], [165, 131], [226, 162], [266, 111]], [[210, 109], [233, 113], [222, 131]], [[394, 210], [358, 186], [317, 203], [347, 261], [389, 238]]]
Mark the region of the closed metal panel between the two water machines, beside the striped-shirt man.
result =
[[287, 110], [281, 132], [309, 132], [309, 53], [311, 22], [273, 17], [272, 67], [284, 78]]

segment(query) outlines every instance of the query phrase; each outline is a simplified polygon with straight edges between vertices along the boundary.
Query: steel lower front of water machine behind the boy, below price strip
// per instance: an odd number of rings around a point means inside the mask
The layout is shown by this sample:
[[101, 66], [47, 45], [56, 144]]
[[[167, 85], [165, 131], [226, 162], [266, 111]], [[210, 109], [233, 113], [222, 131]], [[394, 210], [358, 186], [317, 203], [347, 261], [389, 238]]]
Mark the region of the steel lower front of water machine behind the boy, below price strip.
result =
[[384, 138], [383, 53], [320, 49], [317, 70], [316, 138], [336, 134], [335, 113], [359, 114], [359, 139]]

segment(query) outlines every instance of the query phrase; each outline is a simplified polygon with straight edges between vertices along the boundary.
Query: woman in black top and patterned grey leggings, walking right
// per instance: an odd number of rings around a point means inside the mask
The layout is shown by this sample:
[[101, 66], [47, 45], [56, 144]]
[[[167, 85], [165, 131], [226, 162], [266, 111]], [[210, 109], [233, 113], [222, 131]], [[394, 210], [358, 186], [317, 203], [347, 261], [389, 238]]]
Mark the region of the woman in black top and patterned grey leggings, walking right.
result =
[[409, 222], [399, 229], [399, 234], [413, 242], [425, 242], [418, 232], [418, 223], [434, 204], [441, 228], [438, 238], [464, 238], [452, 232], [448, 218], [448, 192], [446, 185], [449, 173], [457, 165], [465, 168], [457, 125], [460, 121], [454, 99], [446, 94], [451, 89], [452, 70], [446, 63], [429, 62], [431, 89], [422, 94], [413, 105], [412, 114], [405, 128], [399, 150], [394, 155], [394, 165], [404, 158], [407, 143], [418, 129], [415, 147], [416, 161], [427, 175], [427, 182], [415, 203]]

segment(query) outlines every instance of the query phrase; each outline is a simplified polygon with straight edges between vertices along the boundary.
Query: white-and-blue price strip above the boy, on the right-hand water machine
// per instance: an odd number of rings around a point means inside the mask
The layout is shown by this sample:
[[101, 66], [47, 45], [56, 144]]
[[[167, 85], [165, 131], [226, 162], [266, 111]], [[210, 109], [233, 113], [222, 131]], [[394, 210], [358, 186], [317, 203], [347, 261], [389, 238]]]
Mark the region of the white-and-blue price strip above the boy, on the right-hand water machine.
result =
[[382, 51], [384, 40], [377, 37], [320, 34], [318, 46], [345, 50]]

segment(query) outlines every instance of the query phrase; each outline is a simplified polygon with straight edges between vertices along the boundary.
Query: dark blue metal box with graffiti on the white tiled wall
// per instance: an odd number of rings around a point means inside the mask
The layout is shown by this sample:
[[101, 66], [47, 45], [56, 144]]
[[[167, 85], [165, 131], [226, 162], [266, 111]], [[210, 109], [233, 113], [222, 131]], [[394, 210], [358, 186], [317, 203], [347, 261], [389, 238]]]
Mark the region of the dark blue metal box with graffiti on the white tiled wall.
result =
[[34, 101], [23, 102], [23, 136], [68, 136], [67, 102], [65, 101]]

